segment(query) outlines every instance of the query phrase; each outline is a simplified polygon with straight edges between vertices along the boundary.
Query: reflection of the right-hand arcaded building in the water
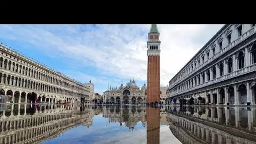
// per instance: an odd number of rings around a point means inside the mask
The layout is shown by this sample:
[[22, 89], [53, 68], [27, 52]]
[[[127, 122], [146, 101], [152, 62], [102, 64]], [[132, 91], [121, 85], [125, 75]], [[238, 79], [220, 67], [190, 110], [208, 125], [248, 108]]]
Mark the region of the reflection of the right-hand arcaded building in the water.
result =
[[256, 144], [256, 108], [168, 107], [167, 120], [183, 144]]

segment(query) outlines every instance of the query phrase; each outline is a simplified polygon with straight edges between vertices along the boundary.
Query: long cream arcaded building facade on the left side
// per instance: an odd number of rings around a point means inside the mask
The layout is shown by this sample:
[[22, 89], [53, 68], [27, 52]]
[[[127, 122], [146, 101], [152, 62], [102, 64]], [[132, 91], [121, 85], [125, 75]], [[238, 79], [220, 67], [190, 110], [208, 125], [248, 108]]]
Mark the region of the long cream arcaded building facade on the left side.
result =
[[0, 45], [0, 102], [76, 102], [89, 93], [83, 83]]

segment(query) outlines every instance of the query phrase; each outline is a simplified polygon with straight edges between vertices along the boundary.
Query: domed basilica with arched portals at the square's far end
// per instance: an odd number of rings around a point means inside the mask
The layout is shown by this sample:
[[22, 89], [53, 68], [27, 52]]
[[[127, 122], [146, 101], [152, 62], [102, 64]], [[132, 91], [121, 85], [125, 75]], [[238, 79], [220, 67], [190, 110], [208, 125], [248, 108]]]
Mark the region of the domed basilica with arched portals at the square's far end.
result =
[[103, 102], [114, 102], [121, 104], [143, 104], [147, 99], [147, 86], [144, 85], [140, 88], [135, 80], [131, 79], [129, 83], [123, 83], [117, 87], [111, 87], [108, 91], [103, 93]]

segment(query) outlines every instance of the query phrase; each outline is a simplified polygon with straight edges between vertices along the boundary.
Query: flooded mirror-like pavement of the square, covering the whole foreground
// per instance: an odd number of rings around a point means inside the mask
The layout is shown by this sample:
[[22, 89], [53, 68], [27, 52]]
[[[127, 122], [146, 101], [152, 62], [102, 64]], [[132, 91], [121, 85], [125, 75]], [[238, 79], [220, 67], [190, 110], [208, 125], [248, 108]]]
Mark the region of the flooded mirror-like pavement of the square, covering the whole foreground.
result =
[[0, 104], [0, 144], [256, 144], [254, 107]]

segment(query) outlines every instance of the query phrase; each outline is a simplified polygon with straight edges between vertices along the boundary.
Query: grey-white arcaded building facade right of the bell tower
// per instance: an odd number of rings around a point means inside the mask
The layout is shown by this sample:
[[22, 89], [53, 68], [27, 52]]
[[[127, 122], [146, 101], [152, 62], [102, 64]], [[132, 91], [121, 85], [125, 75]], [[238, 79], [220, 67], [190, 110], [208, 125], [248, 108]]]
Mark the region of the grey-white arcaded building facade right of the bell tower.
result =
[[255, 70], [255, 24], [225, 24], [170, 80], [168, 99], [254, 105]]

